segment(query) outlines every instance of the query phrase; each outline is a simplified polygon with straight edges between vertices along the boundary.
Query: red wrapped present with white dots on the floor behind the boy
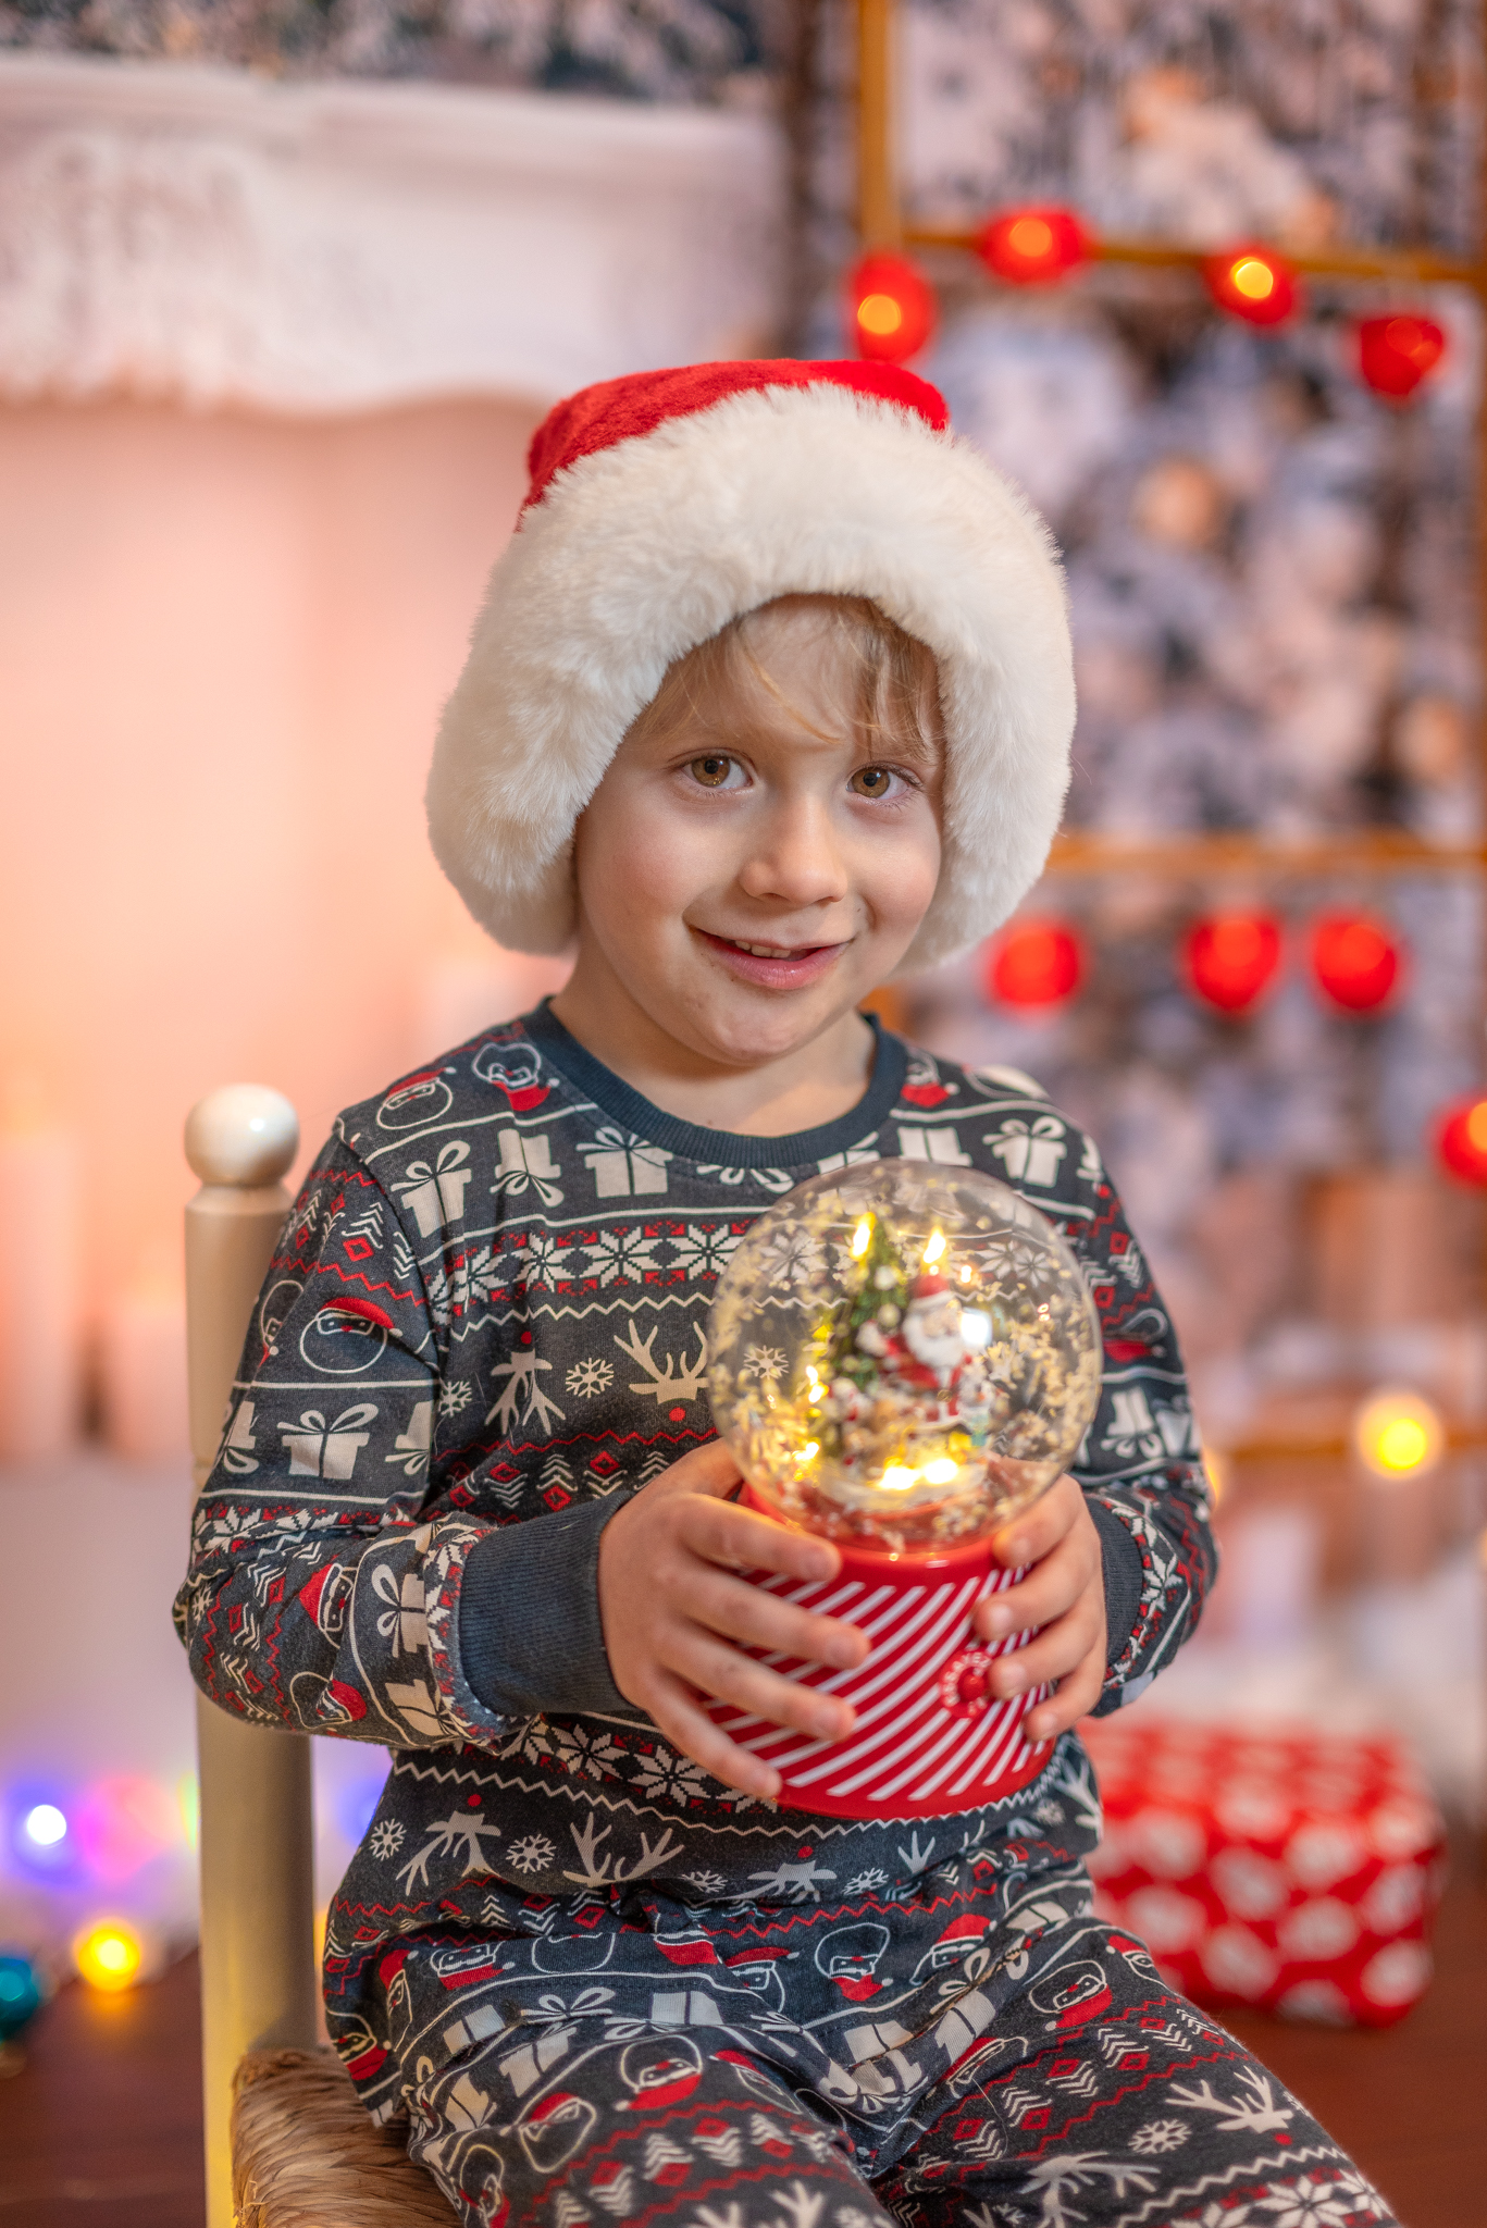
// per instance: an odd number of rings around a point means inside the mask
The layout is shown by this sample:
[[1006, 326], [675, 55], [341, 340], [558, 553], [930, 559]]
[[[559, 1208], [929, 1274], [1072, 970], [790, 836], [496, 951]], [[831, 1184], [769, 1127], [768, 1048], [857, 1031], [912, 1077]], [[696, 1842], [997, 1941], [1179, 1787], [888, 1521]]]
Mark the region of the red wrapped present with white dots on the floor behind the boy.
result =
[[1146, 1713], [1081, 1731], [1095, 1905], [1184, 1996], [1387, 2027], [1425, 1994], [1445, 1825], [1402, 1742]]

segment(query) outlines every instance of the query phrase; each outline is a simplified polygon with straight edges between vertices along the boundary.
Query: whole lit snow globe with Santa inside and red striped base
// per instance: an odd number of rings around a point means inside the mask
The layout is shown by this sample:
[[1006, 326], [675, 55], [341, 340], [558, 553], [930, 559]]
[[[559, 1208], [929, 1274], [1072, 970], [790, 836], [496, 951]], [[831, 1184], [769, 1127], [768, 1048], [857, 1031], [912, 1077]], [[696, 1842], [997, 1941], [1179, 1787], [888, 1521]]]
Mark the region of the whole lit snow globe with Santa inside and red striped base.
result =
[[774, 1662], [856, 1711], [811, 1742], [731, 1704], [785, 1802], [921, 1816], [1041, 1769], [1041, 1687], [997, 1704], [970, 1611], [1019, 1573], [992, 1535], [1072, 1462], [1099, 1401], [1088, 1288], [1052, 1223], [965, 1167], [874, 1161], [816, 1176], [740, 1241], [713, 1301], [709, 1393], [745, 1499], [843, 1555], [820, 1584], [758, 1575], [867, 1631], [856, 1671]]

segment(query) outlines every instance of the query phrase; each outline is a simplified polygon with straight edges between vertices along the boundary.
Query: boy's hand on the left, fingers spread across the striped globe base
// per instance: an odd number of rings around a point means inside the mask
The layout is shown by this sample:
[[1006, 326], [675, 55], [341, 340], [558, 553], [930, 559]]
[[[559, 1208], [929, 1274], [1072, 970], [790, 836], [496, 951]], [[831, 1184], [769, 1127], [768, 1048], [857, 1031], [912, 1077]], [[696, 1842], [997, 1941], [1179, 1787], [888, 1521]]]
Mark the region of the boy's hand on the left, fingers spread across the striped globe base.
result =
[[600, 1622], [615, 1687], [655, 1720], [671, 1747], [727, 1787], [771, 1798], [780, 1773], [720, 1733], [698, 1696], [816, 1740], [843, 1740], [854, 1724], [852, 1704], [791, 1684], [736, 1642], [852, 1669], [867, 1655], [867, 1635], [733, 1575], [754, 1569], [827, 1580], [840, 1569], [829, 1540], [736, 1508], [727, 1495], [738, 1482], [738, 1464], [713, 1439], [673, 1462], [609, 1519], [600, 1535]]

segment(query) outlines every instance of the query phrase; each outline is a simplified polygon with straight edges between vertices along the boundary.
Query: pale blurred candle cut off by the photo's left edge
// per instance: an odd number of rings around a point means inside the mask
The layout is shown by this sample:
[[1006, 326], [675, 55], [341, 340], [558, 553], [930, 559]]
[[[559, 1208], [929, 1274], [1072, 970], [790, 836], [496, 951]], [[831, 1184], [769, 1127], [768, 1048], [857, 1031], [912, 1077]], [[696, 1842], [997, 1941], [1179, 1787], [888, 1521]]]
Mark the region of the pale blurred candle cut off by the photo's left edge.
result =
[[0, 1459], [65, 1453], [80, 1424], [78, 1139], [0, 1132]]

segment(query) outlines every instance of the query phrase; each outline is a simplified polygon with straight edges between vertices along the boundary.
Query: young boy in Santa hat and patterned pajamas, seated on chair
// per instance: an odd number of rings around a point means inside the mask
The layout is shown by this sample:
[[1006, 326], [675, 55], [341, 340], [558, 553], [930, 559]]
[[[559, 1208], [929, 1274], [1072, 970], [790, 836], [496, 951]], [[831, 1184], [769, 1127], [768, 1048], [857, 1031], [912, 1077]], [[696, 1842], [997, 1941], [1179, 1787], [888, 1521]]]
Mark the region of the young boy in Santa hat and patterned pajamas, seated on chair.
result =
[[[1213, 1571], [1182, 1364], [1026, 1078], [861, 1014], [1041, 869], [1070, 648], [1037, 519], [923, 381], [731, 363], [537, 432], [430, 780], [435, 847], [568, 987], [352, 1107], [285, 1225], [178, 1618], [225, 1709], [392, 1751], [325, 1936], [330, 2032], [466, 2221], [1347, 2228], [1387, 2208], [1090, 1909], [1075, 1720]], [[838, 1738], [751, 1586], [836, 1551], [736, 1506], [707, 1310], [823, 1167], [1010, 1176], [1106, 1335], [1072, 1477], [976, 1611], [1046, 1762], [981, 1809], [785, 1809], [702, 1698]], [[745, 1646], [760, 1655], [745, 1653]]]

